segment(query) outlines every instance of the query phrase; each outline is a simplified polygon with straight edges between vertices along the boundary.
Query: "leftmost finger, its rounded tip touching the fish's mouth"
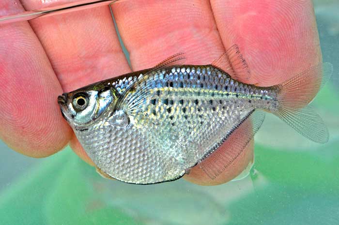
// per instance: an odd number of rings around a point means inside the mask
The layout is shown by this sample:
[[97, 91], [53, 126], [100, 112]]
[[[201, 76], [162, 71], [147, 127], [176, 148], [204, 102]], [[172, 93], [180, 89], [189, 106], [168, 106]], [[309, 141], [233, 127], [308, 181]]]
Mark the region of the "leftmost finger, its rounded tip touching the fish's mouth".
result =
[[[11, 0], [0, 9], [1, 15], [23, 11]], [[56, 101], [60, 83], [27, 22], [0, 25], [0, 33], [0, 138], [25, 155], [53, 154], [71, 136]]]

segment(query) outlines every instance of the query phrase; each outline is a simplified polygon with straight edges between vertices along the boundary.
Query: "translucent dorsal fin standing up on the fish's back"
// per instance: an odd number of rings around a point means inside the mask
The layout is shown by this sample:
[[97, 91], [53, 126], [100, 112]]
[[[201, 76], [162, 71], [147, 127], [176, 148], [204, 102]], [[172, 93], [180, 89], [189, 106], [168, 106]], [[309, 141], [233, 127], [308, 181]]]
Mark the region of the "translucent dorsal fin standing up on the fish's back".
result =
[[224, 54], [214, 60], [212, 65], [239, 81], [246, 82], [251, 76], [247, 62], [240, 53], [239, 46], [236, 44], [232, 45]]

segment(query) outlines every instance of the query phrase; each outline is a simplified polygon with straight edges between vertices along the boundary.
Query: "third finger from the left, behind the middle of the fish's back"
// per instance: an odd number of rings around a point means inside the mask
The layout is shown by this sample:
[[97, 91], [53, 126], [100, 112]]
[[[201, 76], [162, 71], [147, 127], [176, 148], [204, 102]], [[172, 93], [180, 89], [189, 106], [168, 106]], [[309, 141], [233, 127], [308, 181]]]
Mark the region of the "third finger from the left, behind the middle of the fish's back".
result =
[[[152, 67], [178, 52], [185, 52], [186, 64], [207, 64], [225, 51], [207, 0], [166, 1], [166, 4], [128, 1], [113, 5], [113, 12], [133, 70]], [[223, 145], [222, 149], [226, 150], [227, 146]], [[252, 151], [252, 147], [244, 151], [244, 155], [228, 167], [227, 175], [209, 184], [223, 183], [237, 176], [248, 165]], [[246, 163], [240, 163], [241, 160]], [[201, 173], [193, 172], [189, 176], [189, 180], [196, 183], [204, 179]]]

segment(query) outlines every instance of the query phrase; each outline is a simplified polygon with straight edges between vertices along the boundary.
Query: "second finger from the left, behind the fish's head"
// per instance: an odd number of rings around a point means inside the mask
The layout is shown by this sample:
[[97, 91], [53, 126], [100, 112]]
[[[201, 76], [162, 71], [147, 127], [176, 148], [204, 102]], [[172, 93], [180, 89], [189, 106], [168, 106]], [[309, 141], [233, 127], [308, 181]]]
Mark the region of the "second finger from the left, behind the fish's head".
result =
[[[35, 0], [24, 2], [28, 9], [40, 8]], [[64, 92], [130, 72], [108, 6], [37, 18], [30, 23]], [[75, 135], [70, 145], [85, 162], [91, 162]]]

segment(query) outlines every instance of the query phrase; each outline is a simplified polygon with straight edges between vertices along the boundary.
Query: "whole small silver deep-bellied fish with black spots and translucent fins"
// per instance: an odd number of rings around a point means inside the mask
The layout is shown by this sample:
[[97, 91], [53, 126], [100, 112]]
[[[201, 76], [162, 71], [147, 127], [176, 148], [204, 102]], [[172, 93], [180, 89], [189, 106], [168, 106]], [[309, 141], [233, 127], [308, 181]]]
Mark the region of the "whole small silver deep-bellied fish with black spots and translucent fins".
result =
[[[62, 116], [103, 177], [133, 184], [177, 180], [199, 165], [215, 179], [244, 151], [270, 112], [308, 139], [328, 130], [308, 105], [333, 72], [320, 63], [282, 84], [259, 87], [238, 45], [206, 65], [177, 53], [153, 68], [58, 97]], [[240, 135], [229, 138], [240, 126]], [[240, 129], [238, 129], [239, 131]], [[230, 148], [218, 147], [227, 142]]]

